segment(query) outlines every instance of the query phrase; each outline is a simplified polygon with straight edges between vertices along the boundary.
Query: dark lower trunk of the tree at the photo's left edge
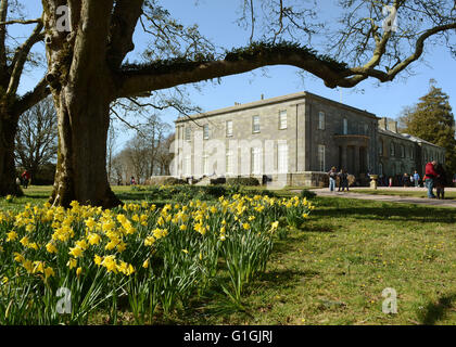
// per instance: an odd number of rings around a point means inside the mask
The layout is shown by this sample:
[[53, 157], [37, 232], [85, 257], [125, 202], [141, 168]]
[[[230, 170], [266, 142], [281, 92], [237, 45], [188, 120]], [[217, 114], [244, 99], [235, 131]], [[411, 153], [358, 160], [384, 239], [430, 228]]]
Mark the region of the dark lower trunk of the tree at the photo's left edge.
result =
[[[2, 107], [3, 108], [3, 107]], [[24, 195], [16, 184], [14, 165], [14, 138], [17, 131], [17, 117], [0, 111], [0, 196]]]

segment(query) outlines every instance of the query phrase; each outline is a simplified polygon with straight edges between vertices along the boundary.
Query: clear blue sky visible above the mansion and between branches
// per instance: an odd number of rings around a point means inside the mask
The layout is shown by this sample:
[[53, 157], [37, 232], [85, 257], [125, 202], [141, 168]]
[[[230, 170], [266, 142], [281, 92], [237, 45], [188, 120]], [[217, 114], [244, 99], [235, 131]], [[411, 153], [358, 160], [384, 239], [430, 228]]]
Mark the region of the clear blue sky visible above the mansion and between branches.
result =
[[[226, 0], [167, 0], [166, 9], [181, 23], [199, 24], [200, 31], [217, 46], [232, 47], [249, 43], [250, 31], [240, 28], [235, 22], [239, 17], [239, 1]], [[26, 13], [29, 17], [39, 16], [41, 1], [26, 1]], [[338, 15], [334, 0], [319, 1], [319, 11], [327, 21], [333, 21]], [[326, 12], [325, 12], [326, 10]], [[398, 18], [401, 20], [401, 18]], [[29, 27], [30, 29], [31, 27]], [[20, 36], [24, 30], [18, 26], [12, 27], [10, 34]], [[138, 27], [135, 34], [136, 50], [128, 55], [132, 62], [137, 54], [144, 49], [147, 36]], [[37, 46], [35, 51], [42, 52], [43, 44]], [[300, 91], [328, 98], [334, 101], [366, 110], [378, 117], [395, 118], [400, 116], [404, 106], [413, 105], [429, 90], [429, 80], [436, 80], [436, 87], [449, 95], [449, 103], [456, 113], [456, 60], [444, 47], [435, 47], [426, 55], [427, 64], [416, 63], [414, 75], [398, 78], [392, 82], [378, 83], [375, 80], [365, 80], [353, 89], [330, 89], [324, 82], [308, 74], [303, 78], [297, 75], [299, 69], [290, 66], [274, 66], [266, 70], [257, 69], [253, 73], [224, 77], [220, 83], [203, 82], [201, 90], [188, 87], [193, 104], [204, 112], [235, 105], [235, 102], [248, 103], [265, 99], [286, 95]], [[28, 72], [21, 82], [20, 92], [31, 89], [41, 78], [45, 69], [36, 68]], [[173, 124], [178, 114], [175, 111], [165, 112], [162, 119]], [[122, 146], [131, 137], [131, 132], [124, 132], [118, 141]]]

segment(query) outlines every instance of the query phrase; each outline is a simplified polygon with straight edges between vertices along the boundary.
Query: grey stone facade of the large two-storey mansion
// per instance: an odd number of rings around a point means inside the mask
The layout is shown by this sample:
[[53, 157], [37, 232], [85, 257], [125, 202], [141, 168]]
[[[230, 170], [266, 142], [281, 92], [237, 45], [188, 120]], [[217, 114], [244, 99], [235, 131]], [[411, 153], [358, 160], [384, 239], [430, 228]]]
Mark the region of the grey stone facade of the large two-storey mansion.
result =
[[[442, 155], [443, 149], [390, 130], [392, 125], [309, 92], [237, 103], [175, 121], [173, 176], [268, 176], [282, 184], [319, 187], [327, 184], [332, 166], [363, 179], [368, 172], [396, 175], [418, 167], [425, 147]], [[390, 143], [394, 156], [387, 155]], [[402, 146], [414, 157], [397, 156]]]

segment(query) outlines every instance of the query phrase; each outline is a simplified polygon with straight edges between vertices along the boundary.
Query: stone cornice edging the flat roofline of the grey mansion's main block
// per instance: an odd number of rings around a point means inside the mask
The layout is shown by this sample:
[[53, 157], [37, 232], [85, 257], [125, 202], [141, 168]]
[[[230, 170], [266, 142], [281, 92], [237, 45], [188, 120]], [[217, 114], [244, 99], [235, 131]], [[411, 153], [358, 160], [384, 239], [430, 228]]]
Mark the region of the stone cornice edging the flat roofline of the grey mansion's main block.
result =
[[[239, 112], [239, 111], [243, 111], [243, 110], [249, 110], [249, 108], [255, 108], [255, 107], [262, 107], [262, 106], [266, 106], [266, 105], [271, 105], [271, 104], [276, 104], [276, 103], [281, 103], [281, 102], [287, 102], [287, 101], [292, 101], [292, 100], [304, 100], [306, 98], [312, 98], [312, 99], [316, 99], [326, 103], [330, 103], [333, 105], [337, 105], [339, 107], [343, 107], [346, 110], [351, 110], [357, 113], [363, 113], [365, 116], [371, 117], [371, 118], [378, 118], [375, 114], [367, 112], [366, 110], [359, 110], [327, 98], [322, 98], [316, 94], [313, 94], [308, 91], [303, 91], [303, 92], [297, 92], [297, 93], [293, 93], [293, 94], [288, 94], [288, 95], [282, 95], [282, 97], [276, 97], [276, 98], [270, 98], [270, 99], [265, 99], [265, 100], [259, 100], [259, 101], [254, 101], [254, 102], [250, 102], [250, 103], [245, 103], [245, 104], [238, 104], [235, 106], [229, 106], [229, 107], [225, 107], [225, 108], [219, 108], [219, 110], [214, 110], [214, 111], [210, 111], [210, 112], [205, 112], [205, 113], [200, 113], [200, 114], [195, 114], [195, 115], [191, 115], [190, 118], [192, 119], [198, 119], [198, 118], [205, 118], [205, 117], [212, 117], [212, 116], [216, 116], [216, 115], [221, 115], [221, 114], [228, 114], [228, 113], [232, 113], [232, 112]], [[174, 123], [183, 123], [183, 121], [188, 121], [189, 117], [179, 117], [177, 118]]]

